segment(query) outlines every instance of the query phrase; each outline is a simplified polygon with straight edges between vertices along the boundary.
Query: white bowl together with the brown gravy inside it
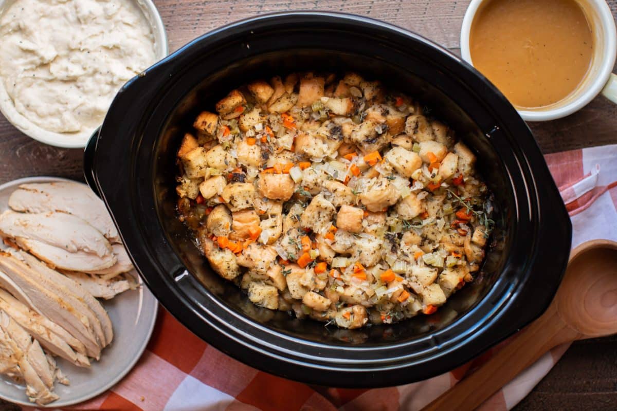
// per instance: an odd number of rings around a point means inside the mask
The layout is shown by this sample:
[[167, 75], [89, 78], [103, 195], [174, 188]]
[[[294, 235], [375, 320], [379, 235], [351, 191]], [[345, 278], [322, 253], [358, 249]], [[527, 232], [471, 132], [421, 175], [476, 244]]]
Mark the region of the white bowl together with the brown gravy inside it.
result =
[[617, 103], [615, 21], [604, 0], [472, 0], [461, 54], [528, 121]]

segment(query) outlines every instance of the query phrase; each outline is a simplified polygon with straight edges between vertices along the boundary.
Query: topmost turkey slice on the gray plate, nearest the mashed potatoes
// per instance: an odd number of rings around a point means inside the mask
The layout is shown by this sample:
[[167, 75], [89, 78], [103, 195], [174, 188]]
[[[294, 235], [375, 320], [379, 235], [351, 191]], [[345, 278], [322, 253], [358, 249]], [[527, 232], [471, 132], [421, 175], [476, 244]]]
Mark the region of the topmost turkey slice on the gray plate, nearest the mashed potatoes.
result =
[[62, 211], [73, 214], [99, 230], [110, 242], [120, 242], [103, 201], [87, 185], [79, 182], [22, 184], [10, 195], [9, 207], [28, 213]]

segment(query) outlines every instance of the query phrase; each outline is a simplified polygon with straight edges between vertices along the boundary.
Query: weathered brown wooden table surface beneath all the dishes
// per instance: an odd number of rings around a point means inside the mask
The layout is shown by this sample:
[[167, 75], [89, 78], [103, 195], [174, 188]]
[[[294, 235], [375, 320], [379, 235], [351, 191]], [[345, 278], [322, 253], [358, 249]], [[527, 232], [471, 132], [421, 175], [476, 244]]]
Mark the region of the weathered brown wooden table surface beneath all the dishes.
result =
[[[459, 54], [467, 0], [154, 0], [171, 51], [213, 28], [255, 14], [331, 10], [402, 26]], [[608, 0], [617, 15], [617, 0]], [[617, 106], [597, 97], [568, 118], [530, 124], [544, 153], [617, 143]], [[0, 183], [27, 176], [83, 179], [81, 150], [39, 144], [0, 115]], [[617, 337], [575, 343], [516, 410], [617, 409]], [[1, 407], [0, 407], [1, 408]]]

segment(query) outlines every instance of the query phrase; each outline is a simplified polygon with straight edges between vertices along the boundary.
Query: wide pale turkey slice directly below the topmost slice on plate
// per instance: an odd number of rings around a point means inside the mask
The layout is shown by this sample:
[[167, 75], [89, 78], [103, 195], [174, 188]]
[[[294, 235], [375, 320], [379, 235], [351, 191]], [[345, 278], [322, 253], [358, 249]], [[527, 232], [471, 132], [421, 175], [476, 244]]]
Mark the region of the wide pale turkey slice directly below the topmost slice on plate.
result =
[[71, 214], [7, 210], [0, 214], [0, 232], [43, 261], [62, 269], [91, 271], [116, 263], [107, 238]]

